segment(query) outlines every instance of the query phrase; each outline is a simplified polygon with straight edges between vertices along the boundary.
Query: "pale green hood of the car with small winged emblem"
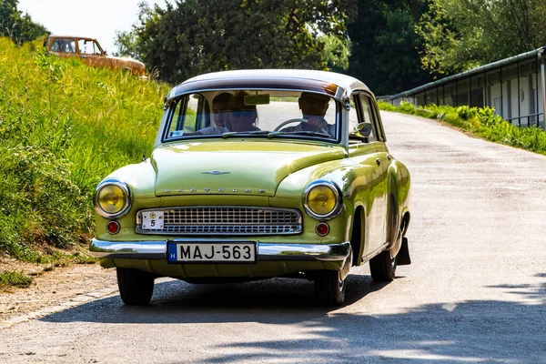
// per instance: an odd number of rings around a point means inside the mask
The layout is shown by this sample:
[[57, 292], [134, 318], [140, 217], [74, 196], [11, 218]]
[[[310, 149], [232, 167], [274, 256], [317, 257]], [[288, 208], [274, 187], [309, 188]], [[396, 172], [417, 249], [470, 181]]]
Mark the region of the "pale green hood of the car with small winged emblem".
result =
[[291, 173], [344, 157], [346, 150], [337, 146], [222, 140], [158, 147], [151, 162], [156, 170], [156, 196], [272, 197]]

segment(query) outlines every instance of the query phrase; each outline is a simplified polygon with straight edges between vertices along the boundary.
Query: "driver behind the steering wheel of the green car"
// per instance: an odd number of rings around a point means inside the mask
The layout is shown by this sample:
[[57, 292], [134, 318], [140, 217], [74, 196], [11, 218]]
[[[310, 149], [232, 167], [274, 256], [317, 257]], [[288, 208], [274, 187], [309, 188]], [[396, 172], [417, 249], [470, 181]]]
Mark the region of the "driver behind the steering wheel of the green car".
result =
[[298, 99], [299, 109], [307, 123], [298, 126], [288, 126], [283, 131], [319, 131], [336, 136], [336, 125], [330, 125], [324, 118], [329, 106], [329, 96], [302, 92]]

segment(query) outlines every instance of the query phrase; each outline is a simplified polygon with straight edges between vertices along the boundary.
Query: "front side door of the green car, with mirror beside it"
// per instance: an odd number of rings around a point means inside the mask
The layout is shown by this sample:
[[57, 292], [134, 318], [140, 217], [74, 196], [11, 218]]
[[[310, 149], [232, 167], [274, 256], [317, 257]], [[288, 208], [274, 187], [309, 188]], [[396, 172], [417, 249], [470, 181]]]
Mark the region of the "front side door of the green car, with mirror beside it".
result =
[[[362, 173], [366, 176], [365, 191], [365, 234], [366, 244], [363, 258], [374, 255], [387, 241], [387, 167], [389, 166], [388, 150], [385, 147], [383, 130], [379, 118], [374, 111], [374, 101], [366, 93], [353, 95], [353, 102], [358, 116], [358, 123], [371, 124], [371, 133], [362, 137], [354, 148], [358, 152], [351, 153], [360, 164]], [[350, 149], [350, 147], [349, 147]]]

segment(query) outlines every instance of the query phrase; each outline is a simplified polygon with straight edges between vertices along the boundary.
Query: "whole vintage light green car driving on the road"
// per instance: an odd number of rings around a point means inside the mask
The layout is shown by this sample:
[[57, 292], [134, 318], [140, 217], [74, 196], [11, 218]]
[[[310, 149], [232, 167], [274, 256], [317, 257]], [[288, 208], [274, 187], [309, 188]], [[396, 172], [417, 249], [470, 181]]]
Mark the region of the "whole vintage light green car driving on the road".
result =
[[335, 73], [197, 76], [165, 102], [154, 151], [97, 187], [90, 250], [122, 300], [154, 280], [307, 278], [343, 303], [351, 266], [410, 264], [410, 173], [389, 154], [369, 88]]

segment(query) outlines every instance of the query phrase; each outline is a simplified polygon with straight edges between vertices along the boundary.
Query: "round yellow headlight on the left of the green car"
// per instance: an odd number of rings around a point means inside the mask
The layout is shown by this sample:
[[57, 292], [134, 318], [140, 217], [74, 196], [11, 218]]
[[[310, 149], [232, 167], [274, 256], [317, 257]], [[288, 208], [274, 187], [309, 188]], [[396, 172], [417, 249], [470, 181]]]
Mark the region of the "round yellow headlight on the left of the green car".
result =
[[118, 180], [101, 182], [95, 190], [95, 210], [102, 217], [122, 217], [131, 207], [129, 187]]

